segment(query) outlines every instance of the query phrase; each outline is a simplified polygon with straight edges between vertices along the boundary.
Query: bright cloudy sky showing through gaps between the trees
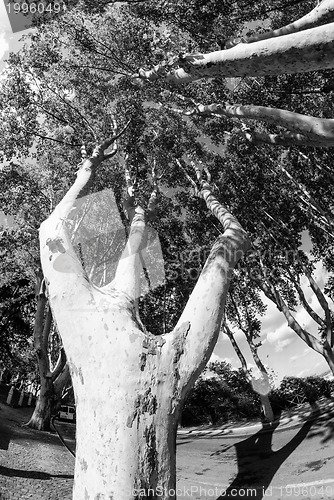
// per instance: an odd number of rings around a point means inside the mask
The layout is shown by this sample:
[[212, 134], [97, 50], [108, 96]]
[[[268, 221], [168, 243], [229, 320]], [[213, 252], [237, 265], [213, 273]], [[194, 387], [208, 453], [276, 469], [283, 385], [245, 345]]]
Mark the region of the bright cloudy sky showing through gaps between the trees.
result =
[[[0, 73], [5, 67], [5, 59], [9, 51], [18, 51], [22, 46], [20, 39], [27, 31], [12, 33], [11, 26], [7, 17], [4, 2], [0, 1]], [[309, 241], [307, 236], [304, 238], [304, 250], [309, 250]], [[326, 272], [317, 266], [315, 278], [322, 287], [326, 281]], [[306, 297], [312, 300], [315, 310], [321, 313], [320, 305], [316, 298], [312, 297], [312, 291], [305, 284], [304, 292]], [[268, 309], [263, 318], [261, 340], [262, 346], [259, 348], [259, 356], [263, 363], [274, 370], [277, 377], [277, 383], [284, 376], [309, 376], [322, 375], [328, 372], [328, 365], [324, 358], [310, 349], [294, 332], [287, 326], [286, 319], [278, 311], [276, 306], [268, 299], [264, 298]], [[333, 307], [333, 303], [331, 303]], [[299, 323], [311, 333], [317, 332], [317, 325], [308, 316], [303, 308], [298, 308], [296, 318]], [[236, 340], [241, 348], [249, 366], [254, 366], [253, 358], [247, 341], [242, 332], [236, 333]], [[229, 339], [221, 335], [212, 356], [212, 360], [226, 360], [234, 368], [241, 366]]]

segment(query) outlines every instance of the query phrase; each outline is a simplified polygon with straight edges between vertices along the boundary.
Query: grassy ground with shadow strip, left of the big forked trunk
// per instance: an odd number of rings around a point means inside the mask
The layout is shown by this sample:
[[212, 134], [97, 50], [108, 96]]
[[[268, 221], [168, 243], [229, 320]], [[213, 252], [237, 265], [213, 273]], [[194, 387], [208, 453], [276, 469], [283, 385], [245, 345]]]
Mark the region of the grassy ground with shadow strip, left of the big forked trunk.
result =
[[23, 425], [31, 412], [0, 404], [0, 500], [69, 500], [74, 458], [54, 432]]

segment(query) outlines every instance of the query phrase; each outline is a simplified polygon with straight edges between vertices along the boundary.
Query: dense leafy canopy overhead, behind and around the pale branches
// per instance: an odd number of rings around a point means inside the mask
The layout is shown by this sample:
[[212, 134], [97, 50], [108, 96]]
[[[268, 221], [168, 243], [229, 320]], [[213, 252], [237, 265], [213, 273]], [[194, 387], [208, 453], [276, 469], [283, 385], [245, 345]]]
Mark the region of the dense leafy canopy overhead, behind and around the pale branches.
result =
[[[21, 54], [11, 56], [1, 83], [4, 119], [0, 154], [8, 160], [21, 159], [20, 165], [10, 165], [0, 174], [6, 186], [0, 193], [1, 207], [15, 214], [19, 226], [15, 234], [6, 233], [1, 240], [8, 257], [6, 265], [10, 256], [13, 267], [18, 260], [21, 267], [28, 268], [27, 262], [35, 266], [38, 225], [71, 185], [80, 161], [81, 142], [91, 153], [96, 141], [110, 135], [113, 116], [120, 126], [131, 118], [127, 133], [119, 141], [118, 156], [101, 166], [94, 191], [113, 190], [126, 226], [122, 212], [125, 153], [137, 174], [138, 201], [143, 206], [150, 194], [153, 161], [162, 174], [163, 194], [153, 226], [159, 233], [166, 282], [146, 290], [141, 298], [143, 321], [155, 334], [174, 327], [222, 230], [207, 214], [203, 202], [193, 197], [184, 172], [175, 163], [180, 159], [193, 175], [187, 162], [192, 155], [210, 168], [217, 198], [239, 218], [253, 241], [252, 250], [235, 272], [227, 317], [231, 320], [239, 314], [239, 327], [242, 325], [249, 338], [259, 342], [265, 307], [256, 279], [276, 287], [291, 310], [295, 309], [298, 297], [289, 273], [297, 281], [303, 275], [296, 258], [301, 235], [307, 231], [313, 244], [312, 257], [303, 256], [307, 266], [313, 268], [322, 261], [333, 272], [332, 229], [323, 224], [317, 211], [302, 199], [300, 189], [280, 171], [282, 148], [245, 142], [237, 120], [184, 118], [166, 107], [179, 107], [179, 92], [203, 104], [261, 104], [332, 117], [333, 100], [327, 90], [333, 71], [244, 78], [233, 85], [216, 78], [177, 89], [163, 81], [138, 82], [131, 75], [138, 67], [152, 67], [179, 52], [222, 48], [226, 38], [244, 31], [246, 22], [268, 19], [269, 14], [273, 26], [281, 26], [307, 13], [314, 2], [154, 0], [111, 7], [108, 2], [74, 0], [67, 5], [69, 10], [61, 19], [45, 19], [48, 23], [44, 26], [39, 19], [39, 28], [28, 46]], [[260, 24], [254, 29], [264, 27]], [[320, 91], [308, 95], [307, 89]], [[277, 132], [274, 125], [255, 123], [254, 127]], [[287, 162], [295, 180], [306, 186], [324, 210], [333, 212], [331, 150], [290, 148]], [[83, 255], [87, 268], [96, 245], [103, 243], [106, 248], [108, 241], [108, 235], [103, 234], [86, 244]], [[17, 247], [24, 249], [19, 259]], [[113, 265], [117, 252], [108, 257]], [[112, 277], [111, 272], [108, 277]], [[33, 279], [31, 269], [29, 279]], [[331, 296], [333, 288], [330, 278], [326, 290]], [[240, 380], [242, 377], [234, 380], [237, 392], [247, 392]], [[213, 384], [210, 391], [215, 390]], [[234, 401], [232, 396], [230, 400]], [[240, 400], [243, 412], [247, 406], [252, 408]]]

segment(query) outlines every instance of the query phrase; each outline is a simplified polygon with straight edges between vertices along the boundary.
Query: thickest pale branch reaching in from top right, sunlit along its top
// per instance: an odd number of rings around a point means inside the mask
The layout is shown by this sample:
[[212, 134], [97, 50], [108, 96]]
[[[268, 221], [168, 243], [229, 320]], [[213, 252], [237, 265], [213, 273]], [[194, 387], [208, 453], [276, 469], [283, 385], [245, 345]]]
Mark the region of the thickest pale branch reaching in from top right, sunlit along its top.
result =
[[201, 78], [306, 73], [334, 67], [334, 23], [209, 54], [186, 54], [179, 69], [161, 64], [139, 78], [188, 83]]

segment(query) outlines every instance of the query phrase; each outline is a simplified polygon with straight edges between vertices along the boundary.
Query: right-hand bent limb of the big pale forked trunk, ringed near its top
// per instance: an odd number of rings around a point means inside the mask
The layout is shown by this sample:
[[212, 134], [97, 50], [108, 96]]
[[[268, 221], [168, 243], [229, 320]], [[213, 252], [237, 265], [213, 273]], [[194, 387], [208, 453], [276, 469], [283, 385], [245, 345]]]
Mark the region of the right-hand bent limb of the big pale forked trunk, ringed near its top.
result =
[[[225, 301], [237, 262], [249, 248], [246, 232], [237, 219], [216, 199], [208, 183], [199, 192], [224, 228], [213, 245], [200, 277], [176, 325], [173, 346], [177, 346], [180, 390], [187, 392], [216, 344]], [[176, 348], [176, 347], [175, 347]]]

